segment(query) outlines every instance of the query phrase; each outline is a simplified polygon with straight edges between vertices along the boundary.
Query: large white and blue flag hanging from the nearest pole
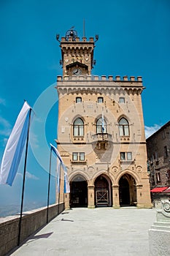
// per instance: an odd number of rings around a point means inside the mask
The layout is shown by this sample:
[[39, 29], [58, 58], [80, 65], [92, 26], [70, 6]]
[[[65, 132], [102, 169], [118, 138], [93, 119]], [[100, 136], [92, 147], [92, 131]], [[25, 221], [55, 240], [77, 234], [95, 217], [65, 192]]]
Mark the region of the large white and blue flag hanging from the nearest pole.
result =
[[4, 150], [1, 161], [0, 184], [12, 186], [26, 143], [30, 111], [30, 106], [25, 102]]

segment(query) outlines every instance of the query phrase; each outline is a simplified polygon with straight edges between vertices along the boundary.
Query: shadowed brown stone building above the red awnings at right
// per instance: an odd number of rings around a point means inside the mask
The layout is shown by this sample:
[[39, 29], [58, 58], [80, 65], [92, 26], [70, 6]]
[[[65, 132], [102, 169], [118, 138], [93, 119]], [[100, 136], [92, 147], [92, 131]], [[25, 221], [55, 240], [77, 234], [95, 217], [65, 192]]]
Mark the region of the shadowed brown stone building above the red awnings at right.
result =
[[150, 187], [170, 186], [170, 121], [147, 138]]

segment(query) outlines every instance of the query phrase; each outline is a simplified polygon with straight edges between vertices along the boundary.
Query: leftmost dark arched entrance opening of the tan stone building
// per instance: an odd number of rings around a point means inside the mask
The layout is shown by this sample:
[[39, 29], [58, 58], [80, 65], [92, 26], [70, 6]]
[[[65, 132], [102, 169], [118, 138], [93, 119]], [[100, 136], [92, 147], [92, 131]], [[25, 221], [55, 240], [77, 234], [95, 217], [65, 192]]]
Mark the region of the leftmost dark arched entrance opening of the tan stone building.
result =
[[88, 183], [81, 175], [75, 176], [70, 183], [70, 206], [88, 206]]

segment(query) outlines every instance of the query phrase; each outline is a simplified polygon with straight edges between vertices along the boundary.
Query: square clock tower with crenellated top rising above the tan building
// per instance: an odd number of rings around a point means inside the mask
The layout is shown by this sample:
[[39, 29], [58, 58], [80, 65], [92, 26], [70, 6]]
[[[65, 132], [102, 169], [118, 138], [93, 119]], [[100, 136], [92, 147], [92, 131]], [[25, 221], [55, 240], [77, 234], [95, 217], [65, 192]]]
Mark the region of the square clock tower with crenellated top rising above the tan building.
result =
[[[59, 35], [56, 39], [59, 41]], [[98, 40], [98, 35], [96, 35]], [[93, 60], [93, 50], [95, 42], [93, 37], [87, 41], [86, 37], [77, 37], [77, 31], [70, 29], [66, 31], [66, 36], [61, 37], [61, 61], [63, 68], [63, 76], [69, 75], [90, 75], [93, 65], [96, 61]]]

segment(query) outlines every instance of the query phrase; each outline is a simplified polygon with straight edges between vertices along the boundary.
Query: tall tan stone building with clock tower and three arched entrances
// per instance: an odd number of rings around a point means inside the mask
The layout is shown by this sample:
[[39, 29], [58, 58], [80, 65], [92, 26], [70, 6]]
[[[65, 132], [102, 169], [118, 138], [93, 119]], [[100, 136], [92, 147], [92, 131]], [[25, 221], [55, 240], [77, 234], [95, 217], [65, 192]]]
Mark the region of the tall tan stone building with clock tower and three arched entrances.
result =
[[142, 77], [92, 75], [98, 36], [81, 40], [69, 30], [57, 39], [63, 76], [56, 86], [56, 142], [71, 188], [69, 194], [61, 192], [60, 200], [66, 208], [150, 208]]

